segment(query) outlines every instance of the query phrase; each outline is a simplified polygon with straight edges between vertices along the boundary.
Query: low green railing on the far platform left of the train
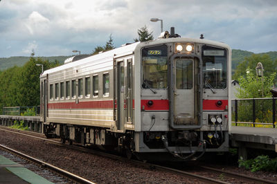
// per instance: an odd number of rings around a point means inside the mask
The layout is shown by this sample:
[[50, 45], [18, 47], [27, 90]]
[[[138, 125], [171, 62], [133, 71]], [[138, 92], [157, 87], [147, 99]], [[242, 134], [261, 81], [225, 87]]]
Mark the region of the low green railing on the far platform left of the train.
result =
[[37, 116], [39, 115], [39, 106], [35, 107], [3, 107], [3, 115], [10, 116]]

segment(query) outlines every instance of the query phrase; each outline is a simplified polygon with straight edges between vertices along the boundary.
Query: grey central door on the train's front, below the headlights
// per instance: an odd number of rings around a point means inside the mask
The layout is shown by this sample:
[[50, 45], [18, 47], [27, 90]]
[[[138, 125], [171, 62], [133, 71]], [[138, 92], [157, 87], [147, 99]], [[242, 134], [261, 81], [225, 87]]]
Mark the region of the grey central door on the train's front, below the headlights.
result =
[[177, 57], [172, 62], [171, 125], [174, 128], [198, 127], [197, 59]]

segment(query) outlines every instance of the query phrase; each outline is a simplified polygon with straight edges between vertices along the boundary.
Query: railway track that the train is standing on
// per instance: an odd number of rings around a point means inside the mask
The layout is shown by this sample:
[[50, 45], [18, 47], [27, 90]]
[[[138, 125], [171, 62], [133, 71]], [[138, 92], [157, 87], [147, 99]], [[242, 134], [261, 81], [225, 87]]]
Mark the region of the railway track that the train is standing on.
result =
[[[1, 130], [1, 128], [0, 128], [0, 130]], [[193, 180], [201, 181], [204, 183], [230, 183], [230, 181], [234, 181], [234, 183], [276, 183], [274, 181], [268, 181], [268, 180], [265, 180], [262, 178], [256, 178], [256, 177], [252, 177], [252, 176], [246, 176], [243, 174], [227, 172], [222, 169], [215, 169], [213, 167], [206, 167], [206, 166], [199, 166], [199, 169], [197, 169], [198, 174], [195, 174], [194, 172], [187, 172], [187, 171], [184, 171], [181, 169], [175, 169], [174, 167], [165, 167], [165, 166], [157, 165], [157, 164], [153, 164], [153, 163], [143, 163], [138, 160], [128, 160], [127, 158], [124, 158], [122, 156], [108, 154], [108, 153], [94, 150], [94, 149], [87, 149], [85, 147], [79, 147], [76, 145], [64, 145], [60, 141], [57, 141], [57, 140], [49, 140], [46, 138], [37, 137], [37, 134], [34, 134], [34, 135], [30, 135], [30, 133], [25, 134], [25, 131], [18, 132], [15, 129], [8, 130], [6, 127], [5, 127], [5, 129], [2, 129], [2, 130], [10, 131], [15, 134], [21, 134], [24, 136], [28, 136], [30, 138], [45, 140], [45, 141], [48, 141], [48, 142], [51, 142], [51, 143], [54, 143], [57, 145], [62, 145], [64, 147], [68, 147], [70, 149], [76, 149], [78, 151], [87, 152], [90, 154], [96, 154], [98, 156], [104, 156], [104, 157], [121, 160], [121, 161], [125, 161], [125, 162], [132, 162], [134, 165], [138, 165], [141, 167], [147, 167], [150, 169], [157, 169], [157, 170], [161, 170], [161, 171], [175, 173], [175, 174], [178, 174], [181, 176], [186, 176], [187, 178], [192, 178]], [[201, 174], [201, 172], [206, 173], [206, 174]], [[207, 173], [210, 173], [210, 174], [207, 174]], [[213, 174], [211, 174], [211, 173], [213, 173]], [[204, 176], [204, 175], [210, 175], [210, 176]], [[213, 177], [211, 178], [211, 176], [213, 176]], [[231, 182], [231, 183], [233, 183], [233, 182]]]

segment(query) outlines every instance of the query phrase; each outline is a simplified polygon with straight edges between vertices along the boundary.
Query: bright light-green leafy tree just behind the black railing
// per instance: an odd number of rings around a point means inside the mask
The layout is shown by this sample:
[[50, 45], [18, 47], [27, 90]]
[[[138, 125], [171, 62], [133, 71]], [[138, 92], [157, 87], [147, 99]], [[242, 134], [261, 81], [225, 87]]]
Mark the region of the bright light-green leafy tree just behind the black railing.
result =
[[247, 68], [245, 73], [245, 77], [241, 75], [238, 79], [240, 89], [238, 89], [238, 93], [235, 94], [237, 98], [271, 97], [270, 90], [272, 86], [274, 86], [275, 72], [271, 73], [269, 77], [258, 77], [250, 68]]

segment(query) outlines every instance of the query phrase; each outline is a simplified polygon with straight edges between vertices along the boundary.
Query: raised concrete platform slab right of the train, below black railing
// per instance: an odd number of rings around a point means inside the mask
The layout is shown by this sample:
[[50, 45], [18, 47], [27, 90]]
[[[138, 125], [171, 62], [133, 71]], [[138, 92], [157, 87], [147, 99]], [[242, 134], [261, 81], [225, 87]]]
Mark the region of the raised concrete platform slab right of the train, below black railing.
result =
[[232, 127], [232, 147], [238, 147], [240, 157], [247, 159], [247, 148], [266, 149], [277, 152], [277, 129], [258, 127]]

